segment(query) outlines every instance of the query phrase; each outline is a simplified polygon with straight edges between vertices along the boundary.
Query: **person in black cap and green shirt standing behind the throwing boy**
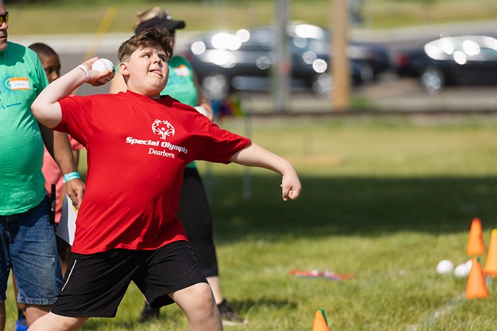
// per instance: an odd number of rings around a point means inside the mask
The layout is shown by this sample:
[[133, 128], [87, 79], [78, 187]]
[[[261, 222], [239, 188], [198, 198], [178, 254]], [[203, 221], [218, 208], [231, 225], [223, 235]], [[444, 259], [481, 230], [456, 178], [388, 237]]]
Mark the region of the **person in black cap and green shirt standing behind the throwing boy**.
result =
[[[137, 13], [134, 29], [135, 33], [138, 34], [150, 28], [165, 28], [170, 35], [170, 44], [174, 47], [176, 30], [182, 29], [185, 26], [184, 21], [176, 21], [168, 12], [159, 7], [153, 7], [144, 12]], [[169, 80], [162, 94], [169, 94], [182, 103], [197, 108], [199, 112], [202, 112], [202, 114], [205, 114], [212, 120], [213, 113], [211, 105], [202, 95], [191, 64], [184, 57], [175, 54], [168, 61], [168, 66]], [[124, 83], [124, 79], [117, 72], [111, 82], [110, 92], [117, 93], [125, 90], [126, 84]], [[246, 323], [228, 305], [220, 288], [219, 270], [213, 241], [211, 210], [208, 205], [202, 179], [194, 162], [190, 163], [184, 170], [178, 217], [184, 225], [188, 241], [202, 267], [202, 271], [211, 285], [223, 323], [225, 325]], [[139, 321], [147, 321], [158, 316], [159, 309], [150, 308], [145, 303]]]

